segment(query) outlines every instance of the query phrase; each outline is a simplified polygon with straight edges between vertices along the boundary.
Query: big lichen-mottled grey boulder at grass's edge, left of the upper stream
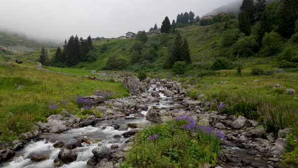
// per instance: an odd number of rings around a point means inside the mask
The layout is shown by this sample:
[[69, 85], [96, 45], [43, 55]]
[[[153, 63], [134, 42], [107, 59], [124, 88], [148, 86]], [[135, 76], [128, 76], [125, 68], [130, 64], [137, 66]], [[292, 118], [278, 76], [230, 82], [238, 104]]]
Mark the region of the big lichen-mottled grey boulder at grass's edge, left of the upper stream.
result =
[[129, 90], [131, 95], [140, 96], [142, 93], [147, 94], [146, 87], [137, 77], [126, 77], [123, 81], [124, 87]]

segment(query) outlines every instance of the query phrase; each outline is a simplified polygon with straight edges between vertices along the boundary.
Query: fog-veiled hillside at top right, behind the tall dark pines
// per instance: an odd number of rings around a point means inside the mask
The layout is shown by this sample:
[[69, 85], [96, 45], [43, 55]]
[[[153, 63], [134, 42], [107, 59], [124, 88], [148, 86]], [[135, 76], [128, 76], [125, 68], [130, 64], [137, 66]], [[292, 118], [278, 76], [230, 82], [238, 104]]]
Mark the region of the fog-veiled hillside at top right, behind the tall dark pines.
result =
[[[273, 1], [280, 1], [280, 0], [267, 0], [266, 3], [270, 4]], [[242, 3], [242, 1], [237, 0], [233, 3], [228, 4], [228, 5], [225, 5], [225, 6], [217, 8], [217, 9], [214, 9], [213, 11], [205, 14], [204, 16], [217, 15], [219, 13], [230, 13], [230, 12], [232, 12], [234, 14], [238, 14], [240, 12], [239, 7], [240, 7], [241, 3]]]

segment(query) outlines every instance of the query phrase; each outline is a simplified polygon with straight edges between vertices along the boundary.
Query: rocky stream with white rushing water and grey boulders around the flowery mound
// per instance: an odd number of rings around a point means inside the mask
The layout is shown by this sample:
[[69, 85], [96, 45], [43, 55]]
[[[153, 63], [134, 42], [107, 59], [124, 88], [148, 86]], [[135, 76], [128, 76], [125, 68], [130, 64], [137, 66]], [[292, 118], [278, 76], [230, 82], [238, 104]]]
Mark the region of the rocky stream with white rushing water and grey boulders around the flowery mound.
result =
[[83, 119], [63, 111], [49, 116], [47, 123], [38, 122], [35, 131], [0, 151], [0, 160], [5, 161], [0, 166], [119, 167], [142, 126], [189, 115], [225, 133], [217, 167], [278, 167], [289, 129], [280, 130], [276, 139], [256, 121], [210, 111], [219, 104], [217, 100], [193, 101], [177, 82], [151, 79], [147, 83], [145, 87], [136, 78], [124, 80], [137, 96], [108, 101], [90, 96], [95, 110], [104, 114], [101, 118]]

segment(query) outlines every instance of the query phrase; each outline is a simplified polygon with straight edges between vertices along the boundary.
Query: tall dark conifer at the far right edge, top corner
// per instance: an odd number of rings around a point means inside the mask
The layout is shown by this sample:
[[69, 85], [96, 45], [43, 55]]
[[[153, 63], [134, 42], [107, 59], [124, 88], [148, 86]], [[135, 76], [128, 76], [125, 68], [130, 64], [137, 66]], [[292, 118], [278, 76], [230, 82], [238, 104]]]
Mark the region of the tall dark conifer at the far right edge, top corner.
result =
[[284, 0], [281, 2], [281, 13], [277, 32], [284, 38], [290, 38], [295, 32], [295, 21], [297, 13], [295, 7], [298, 2], [296, 0]]

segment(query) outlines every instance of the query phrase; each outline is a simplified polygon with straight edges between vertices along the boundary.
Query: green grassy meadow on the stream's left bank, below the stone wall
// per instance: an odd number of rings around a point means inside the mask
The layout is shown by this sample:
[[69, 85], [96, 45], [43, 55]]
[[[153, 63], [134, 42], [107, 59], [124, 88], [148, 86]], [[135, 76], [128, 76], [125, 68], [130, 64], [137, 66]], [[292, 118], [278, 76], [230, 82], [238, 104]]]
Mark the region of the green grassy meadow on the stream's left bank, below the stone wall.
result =
[[[28, 63], [26, 63], [28, 64]], [[96, 90], [115, 93], [113, 98], [128, 95], [122, 83], [94, 81], [37, 70], [35, 65], [0, 65], [0, 130], [2, 139], [14, 140], [16, 135], [30, 131], [36, 121], [45, 121], [62, 109], [77, 113], [73, 96], [92, 95]], [[17, 89], [16, 85], [23, 86]], [[67, 105], [59, 102], [66, 100]], [[49, 109], [53, 102], [58, 108]]]

